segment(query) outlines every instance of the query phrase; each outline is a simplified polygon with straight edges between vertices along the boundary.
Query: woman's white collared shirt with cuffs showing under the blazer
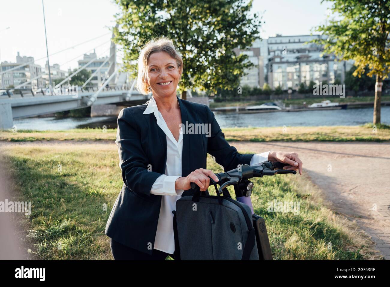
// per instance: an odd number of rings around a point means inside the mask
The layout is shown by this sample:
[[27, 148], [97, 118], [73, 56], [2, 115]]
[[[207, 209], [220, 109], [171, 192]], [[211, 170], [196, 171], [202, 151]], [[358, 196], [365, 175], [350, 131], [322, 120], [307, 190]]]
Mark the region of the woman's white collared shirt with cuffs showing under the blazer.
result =
[[[176, 201], [181, 198], [184, 190], [175, 190], [175, 181], [181, 177], [181, 160], [183, 152], [183, 126], [176, 141], [167, 126], [163, 116], [157, 108], [156, 101], [151, 97], [144, 113], [154, 113], [157, 125], [164, 131], [167, 137], [167, 164], [165, 174], [160, 175], [152, 185], [151, 194], [161, 195], [160, 216], [158, 218], [154, 249], [173, 254], [175, 251], [175, 239], [173, 234], [173, 214], [176, 210]], [[254, 154], [250, 165], [255, 165], [268, 160], [268, 152]]]

